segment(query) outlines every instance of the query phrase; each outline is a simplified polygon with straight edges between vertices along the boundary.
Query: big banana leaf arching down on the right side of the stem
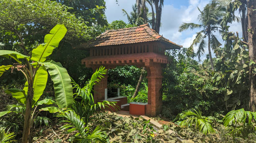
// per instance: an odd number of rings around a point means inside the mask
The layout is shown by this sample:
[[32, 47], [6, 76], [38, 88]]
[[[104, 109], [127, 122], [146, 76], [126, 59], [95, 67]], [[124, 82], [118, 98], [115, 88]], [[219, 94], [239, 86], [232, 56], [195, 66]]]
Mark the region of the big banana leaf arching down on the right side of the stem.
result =
[[41, 63], [48, 69], [51, 80], [54, 82], [55, 100], [59, 108], [69, 108], [73, 105], [73, 90], [71, 79], [67, 70], [61, 63], [49, 62]]

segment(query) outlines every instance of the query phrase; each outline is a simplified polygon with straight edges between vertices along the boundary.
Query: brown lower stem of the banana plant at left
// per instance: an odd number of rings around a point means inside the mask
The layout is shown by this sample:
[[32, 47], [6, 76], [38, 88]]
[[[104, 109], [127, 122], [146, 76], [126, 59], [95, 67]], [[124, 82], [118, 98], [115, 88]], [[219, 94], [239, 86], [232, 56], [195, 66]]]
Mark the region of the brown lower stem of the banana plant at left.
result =
[[[32, 84], [33, 85], [33, 84]], [[30, 135], [30, 122], [31, 122], [31, 101], [33, 99], [33, 86], [28, 84], [28, 97], [26, 100], [26, 113], [24, 119], [24, 126], [23, 126], [23, 135], [22, 135], [22, 143], [28, 143], [30, 140], [28, 137]]]

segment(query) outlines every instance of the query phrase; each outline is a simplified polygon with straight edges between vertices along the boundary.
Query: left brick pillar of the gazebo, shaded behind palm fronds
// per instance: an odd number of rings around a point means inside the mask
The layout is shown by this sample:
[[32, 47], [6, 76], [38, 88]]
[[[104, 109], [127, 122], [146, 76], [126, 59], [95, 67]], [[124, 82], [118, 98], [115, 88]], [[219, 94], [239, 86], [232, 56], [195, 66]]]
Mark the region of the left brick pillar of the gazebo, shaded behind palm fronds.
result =
[[[92, 68], [93, 71], [95, 71], [97, 68]], [[94, 93], [93, 98], [94, 102], [99, 102], [101, 100], [105, 100], [105, 89], [108, 87], [108, 74], [103, 75], [104, 78], [101, 79], [100, 82], [98, 82], [96, 85], [94, 85]]]

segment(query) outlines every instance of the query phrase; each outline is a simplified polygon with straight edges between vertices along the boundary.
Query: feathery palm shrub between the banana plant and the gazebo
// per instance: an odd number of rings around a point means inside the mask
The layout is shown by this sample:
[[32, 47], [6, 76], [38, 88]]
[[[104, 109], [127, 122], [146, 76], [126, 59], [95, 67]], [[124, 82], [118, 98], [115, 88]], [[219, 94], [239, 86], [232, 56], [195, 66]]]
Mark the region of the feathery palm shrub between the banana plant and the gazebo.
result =
[[[102, 101], [95, 104], [92, 88], [95, 84], [100, 82], [100, 79], [103, 78], [103, 75], [106, 74], [107, 70], [105, 67], [100, 67], [92, 74], [90, 81], [88, 81], [84, 87], [80, 87], [73, 79], [72, 84], [73, 88], [76, 91], [74, 93], [74, 104], [70, 110], [61, 111], [57, 109], [55, 112], [58, 113], [58, 117], [65, 118], [63, 122], [68, 124], [62, 126], [62, 129], [68, 129], [68, 132], [78, 131], [75, 135], [74, 141], [79, 141], [82, 143], [105, 143], [106, 136], [102, 132], [102, 128], [97, 126], [92, 133], [89, 131], [87, 126], [90, 122], [92, 115], [100, 111], [101, 108], [110, 106], [115, 107], [115, 102]], [[49, 110], [51, 111], [51, 110]]]

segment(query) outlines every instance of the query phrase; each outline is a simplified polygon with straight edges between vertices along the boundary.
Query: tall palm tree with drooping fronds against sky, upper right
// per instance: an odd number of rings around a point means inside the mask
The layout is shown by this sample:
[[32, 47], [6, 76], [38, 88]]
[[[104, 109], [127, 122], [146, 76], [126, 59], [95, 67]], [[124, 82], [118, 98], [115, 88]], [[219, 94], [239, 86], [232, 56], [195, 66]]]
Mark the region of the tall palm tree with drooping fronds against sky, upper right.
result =
[[208, 37], [208, 51], [209, 51], [209, 56], [210, 56], [211, 68], [213, 70], [211, 48], [215, 49], [221, 45], [220, 42], [218, 41], [218, 39], [213, 34], [213, 32], [215, 32], [215, 31], [221, 32], [221, 27], [218, 27], [218, 25], [220, 25], [222, 17], [225, 14], [225, 7], [219, 5], [219, 3], [216, 1], [212, 1], [209, 4], [207, 4], [202, 11], [199, 8], [198, 8], [198, 10], [201, 13], [197, 17], [200, 24], [183, 23], [179, 27], [179, 32], [182, 32], [187, 29], [190, 29], [190, 30], [194, 30], [195, 28], [201, 29], [200, 32], [197, 32], [197, 35], [196, 35], [195, 39], [193, 40], [189, 49], [192, 49], [193, 46], [199, 44], [196, 54], [197, 54], [198, 58], [200, 59], [202, 54], [205, 53], [205, 47], [206, 47], [205, 38]]

